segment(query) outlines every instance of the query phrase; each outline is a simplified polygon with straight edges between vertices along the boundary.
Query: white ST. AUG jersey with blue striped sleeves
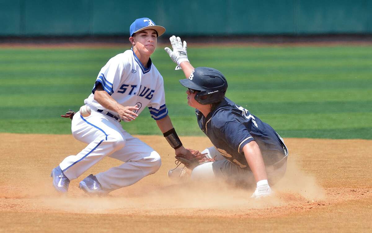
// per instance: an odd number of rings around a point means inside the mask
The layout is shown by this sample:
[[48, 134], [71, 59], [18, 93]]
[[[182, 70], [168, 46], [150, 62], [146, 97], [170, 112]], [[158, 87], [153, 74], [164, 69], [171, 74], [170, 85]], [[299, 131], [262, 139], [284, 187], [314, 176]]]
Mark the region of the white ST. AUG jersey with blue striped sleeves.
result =
[[[152, 64], [151, 59], [146, 69], [133, 50], [126, 50], [111, 58], [100, 70], [92, 93], [84, 100], [86, 105], [111, 112], [94, 100], [94, 92], [101, 83], [103, 89], [123, 106], [139, 106], [138, 115], [148, 106], [151, 117], [159, 120], [168, 115], [165, 105], [163, 77]], [[92, 109], [94, 109], [94, 107]]]

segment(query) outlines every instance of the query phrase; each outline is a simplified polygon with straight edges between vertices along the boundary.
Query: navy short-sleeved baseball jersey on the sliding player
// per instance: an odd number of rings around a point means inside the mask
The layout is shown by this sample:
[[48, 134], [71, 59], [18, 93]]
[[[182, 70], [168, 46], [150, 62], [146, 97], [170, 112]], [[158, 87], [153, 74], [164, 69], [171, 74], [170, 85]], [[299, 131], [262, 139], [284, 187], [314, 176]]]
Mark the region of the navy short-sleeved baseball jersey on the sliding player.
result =
[[273, 165], [288, 155], [283, 139], [247, 109], [224, 98], [206, 117], [196, 109], [199, 127], [217, 150], [231, 163], [250, 169], [243, 147], [256, 141], [266, 166]]

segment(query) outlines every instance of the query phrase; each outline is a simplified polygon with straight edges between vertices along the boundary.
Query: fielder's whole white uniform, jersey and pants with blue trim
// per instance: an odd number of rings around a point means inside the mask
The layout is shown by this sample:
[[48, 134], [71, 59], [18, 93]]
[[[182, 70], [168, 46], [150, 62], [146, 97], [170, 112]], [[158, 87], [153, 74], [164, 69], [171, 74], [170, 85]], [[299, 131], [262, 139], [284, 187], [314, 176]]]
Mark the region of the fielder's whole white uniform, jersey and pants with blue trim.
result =
[[[119, 104], [138, 105], [140, 109], [136, 111], [137, 114], [148, 106], [151, 117], [155, 120], [164, 118], [168, 110], [163, 77], [151, 60], [148, 65], [148, 69], [145, 69], [135, 53], [126, 50], [111, 58], [100, 70], [92, 94], [84, 100], [92, 108], [92, 113], [83, 117], [77, 112], [71, 122], [74, 138], [88, 145], [77, 155], [70, 155], [60, 163], [62, 172], [69, 180], [76, 179], [106, 156], [125, 163], [96, 174], [105, 190], [129, 186], [159, 169], [160, 155], [149, 145], [132, 137], [112, 116], [97, 111], [109, 110], [94, 100], [96, 87], [101, 83], [103, 89]], [[117, 112], [110, 113], [118, 116]]]

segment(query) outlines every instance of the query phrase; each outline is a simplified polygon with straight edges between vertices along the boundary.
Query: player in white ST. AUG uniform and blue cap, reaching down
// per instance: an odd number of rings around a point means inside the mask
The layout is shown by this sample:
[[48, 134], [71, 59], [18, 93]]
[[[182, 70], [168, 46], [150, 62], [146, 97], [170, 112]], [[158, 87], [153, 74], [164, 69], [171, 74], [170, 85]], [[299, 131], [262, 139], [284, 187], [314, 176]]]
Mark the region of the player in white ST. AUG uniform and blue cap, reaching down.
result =
[[135, 120], [146, 107], [175, 153], [187, 153], [168, 116], [163, 77], [150, 59], [157, 37], [165, 28], [141, 18], [131, 24], [129, 31], [132, 49], [114, 56], [102, 67], [92, 93], [84, 100], [92, 113], [87, 117], [76, 113], [72, 118], [73, 137], [88, 145], [52, 170], [53, 186], [60, 193], [67, 192], [71, 180], [106, 156], [124, 164], [84, 178], [79, 183], [84, 192], [107, 194], [155, 173], [161, 165], [160, 155], [119, 123]]

